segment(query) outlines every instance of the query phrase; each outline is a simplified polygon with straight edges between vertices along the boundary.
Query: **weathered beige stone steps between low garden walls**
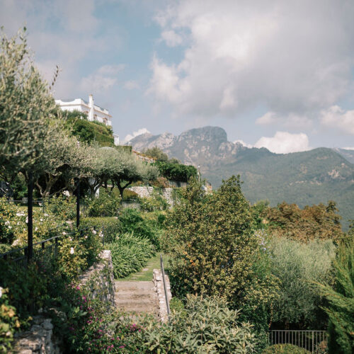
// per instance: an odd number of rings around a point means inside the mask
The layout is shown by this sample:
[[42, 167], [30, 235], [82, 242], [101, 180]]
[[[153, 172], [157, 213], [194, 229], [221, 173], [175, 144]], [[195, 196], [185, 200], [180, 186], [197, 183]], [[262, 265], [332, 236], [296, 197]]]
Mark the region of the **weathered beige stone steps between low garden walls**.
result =
[[125, 312], [159, 316], [158, 299], [152, 281], [115, 281], [115, 307]]

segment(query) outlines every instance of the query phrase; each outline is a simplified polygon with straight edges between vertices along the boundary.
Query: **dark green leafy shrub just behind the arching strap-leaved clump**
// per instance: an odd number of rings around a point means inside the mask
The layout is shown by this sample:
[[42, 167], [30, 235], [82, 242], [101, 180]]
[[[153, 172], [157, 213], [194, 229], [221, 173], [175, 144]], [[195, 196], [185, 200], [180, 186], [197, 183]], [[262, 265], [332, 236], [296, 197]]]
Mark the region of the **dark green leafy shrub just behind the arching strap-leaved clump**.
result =
[[136, 237], [149, 239], [159, 250], [159, 233], [153, 220], [144, 219], [142, 213], [135, 209], [125, 209], [119, 217], [122, 234], [134, 233]]

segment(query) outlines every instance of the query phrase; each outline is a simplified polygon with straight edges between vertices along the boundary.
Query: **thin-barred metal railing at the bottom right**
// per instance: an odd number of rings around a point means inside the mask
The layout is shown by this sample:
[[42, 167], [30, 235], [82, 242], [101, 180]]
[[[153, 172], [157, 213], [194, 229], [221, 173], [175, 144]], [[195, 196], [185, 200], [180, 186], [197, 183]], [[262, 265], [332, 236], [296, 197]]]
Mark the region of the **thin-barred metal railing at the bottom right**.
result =
[[321, 353], [319, 347], [327, 346], [327, 332], [272, 330], [269, 331], [268, 341], [270, 346], [289, 343], [309, 350], [311, 353]]

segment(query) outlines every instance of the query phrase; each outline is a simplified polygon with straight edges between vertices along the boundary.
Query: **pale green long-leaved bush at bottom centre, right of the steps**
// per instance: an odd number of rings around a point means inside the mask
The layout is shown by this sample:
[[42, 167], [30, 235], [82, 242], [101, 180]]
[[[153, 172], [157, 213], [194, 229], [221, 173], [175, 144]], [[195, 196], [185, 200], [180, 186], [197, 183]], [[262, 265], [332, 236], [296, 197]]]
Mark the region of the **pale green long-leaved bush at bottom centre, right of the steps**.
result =
[[[185, 315], [184, 312], [187, 312]], [[150, 324], [144, 331], [152, 353], [254, 353], [256, 338], [239, 312], [217, 297], [187, 297], [185, 309], [173, 312], [168, 323]]]

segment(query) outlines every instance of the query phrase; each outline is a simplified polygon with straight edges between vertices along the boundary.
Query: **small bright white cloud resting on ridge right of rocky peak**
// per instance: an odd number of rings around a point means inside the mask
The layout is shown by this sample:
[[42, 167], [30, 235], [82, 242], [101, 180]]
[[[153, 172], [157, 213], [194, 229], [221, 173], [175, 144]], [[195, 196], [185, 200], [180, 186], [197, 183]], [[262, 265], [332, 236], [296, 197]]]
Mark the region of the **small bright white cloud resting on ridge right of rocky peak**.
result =
[[265, 147], [276, 154], [304, 152], [310, 149], [309, 138], [304, 133], [276, 132], [274, 137], [261, 137], [254, 147]]

